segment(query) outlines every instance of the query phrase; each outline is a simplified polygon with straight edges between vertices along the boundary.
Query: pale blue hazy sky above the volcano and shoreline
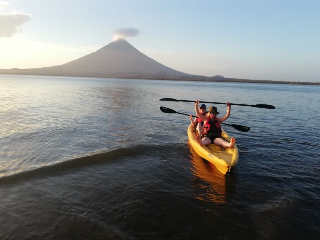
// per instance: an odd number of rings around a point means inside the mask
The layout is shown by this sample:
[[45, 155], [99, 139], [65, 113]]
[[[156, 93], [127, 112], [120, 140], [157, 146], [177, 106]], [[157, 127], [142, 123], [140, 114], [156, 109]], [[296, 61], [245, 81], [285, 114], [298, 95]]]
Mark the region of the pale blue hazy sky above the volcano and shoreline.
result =
[[0, 68], [64, 64], [115, 35], [190, 74], [320, 82], [320, 0], [0, 1]]

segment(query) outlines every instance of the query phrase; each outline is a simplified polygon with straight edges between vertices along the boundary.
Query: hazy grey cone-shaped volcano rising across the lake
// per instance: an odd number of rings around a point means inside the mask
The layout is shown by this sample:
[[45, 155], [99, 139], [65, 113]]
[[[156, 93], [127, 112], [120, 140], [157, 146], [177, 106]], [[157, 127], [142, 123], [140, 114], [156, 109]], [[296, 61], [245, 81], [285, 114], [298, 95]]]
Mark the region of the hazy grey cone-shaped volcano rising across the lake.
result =
[[164, 66], [137, 50], [124, 39], [111, 42], [96, 52], [63, 65], [0, 69], [0, 74], [123, 78], [194, 76]]

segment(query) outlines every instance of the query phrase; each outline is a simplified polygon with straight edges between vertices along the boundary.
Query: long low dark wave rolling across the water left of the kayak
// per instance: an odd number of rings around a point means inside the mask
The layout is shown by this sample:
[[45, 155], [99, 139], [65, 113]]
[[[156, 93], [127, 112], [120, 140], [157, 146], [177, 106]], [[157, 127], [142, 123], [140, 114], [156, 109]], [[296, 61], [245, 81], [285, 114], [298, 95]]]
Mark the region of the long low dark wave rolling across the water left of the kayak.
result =
[[74, 168], [82, 168], [94, 164], [102, 164], [106, 162], [112, 162], [115, 160], [119, 160], [125, 157], [129, 156], [140, 156], [149, 154], [150, 152], [155, 151], [168, 151], [170, 150], [176, 150], [181, 146], [177, 145], [166, 145], [166, 146], [160, 146], [160, 145], [136, 145], [136, 146], [130, 146], [126, 148], [116, 148], [113, 150], [110, 150], [108, 152], [102, 152], [102, 153], [94, 153], [89, 156], [82, 156], [82, 157], [76, 157], [70, 160], [57, 162], [54, 164], [48, 164], [48, 165], [42, 165], [35, 169], [30, 169], [23, 172], [13, 172], [10, 175], [5, 175], [3, 177], [0, 177], [0, 185], [2, 184], [11, 184], [15, 183], [17, 181], [31, 179], [31, 178], [38, 178], [42, 176], [48, 176], [48, 175], [54, 175], [56, 173], [64, 172], [70, 169]]

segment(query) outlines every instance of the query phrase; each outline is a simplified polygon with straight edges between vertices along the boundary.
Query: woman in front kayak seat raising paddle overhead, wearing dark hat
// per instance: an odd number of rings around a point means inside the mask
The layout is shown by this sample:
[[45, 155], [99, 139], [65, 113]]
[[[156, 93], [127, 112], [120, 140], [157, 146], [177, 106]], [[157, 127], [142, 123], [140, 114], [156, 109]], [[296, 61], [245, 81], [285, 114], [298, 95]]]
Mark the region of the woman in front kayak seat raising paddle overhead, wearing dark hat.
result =
[[199, 100], [195, 102], [195, 109], [197, 116], [204, 121], [204, 125], [202, 128], [202, 139], [200, 135], [196, 136], [196, 141], [200, 144], [200, 146], [208, 145], [214, 143], [215, 145], [222, 146], [224, 148], [233, 148], [236, 144], [236, 139], [234, 137], [231, 138], [230, 142], [227, 142], [221, 138], [221, 125], [220, 123], [227, 120], [230, 116], [231, 105], [230, 102], [226, 102], [228, 106], [228, 110], [225, 116], [217, 118], [219, 114], [216, 107], [210, 107], [209, 112], [206, 116], [202, 115], [198, 109]]

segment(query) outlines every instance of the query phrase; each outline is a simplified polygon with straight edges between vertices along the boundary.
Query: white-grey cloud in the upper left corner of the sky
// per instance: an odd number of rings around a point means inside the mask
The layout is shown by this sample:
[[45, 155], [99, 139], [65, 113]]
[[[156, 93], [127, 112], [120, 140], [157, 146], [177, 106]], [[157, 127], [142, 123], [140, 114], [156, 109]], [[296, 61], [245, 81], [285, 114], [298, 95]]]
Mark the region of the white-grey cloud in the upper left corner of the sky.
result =
[[0, 37], [11, 37], [21, 32], [20, 26], [30, 20], [31, 14], [22, 11], [5, 12], [8, 2], [0, 1]]

